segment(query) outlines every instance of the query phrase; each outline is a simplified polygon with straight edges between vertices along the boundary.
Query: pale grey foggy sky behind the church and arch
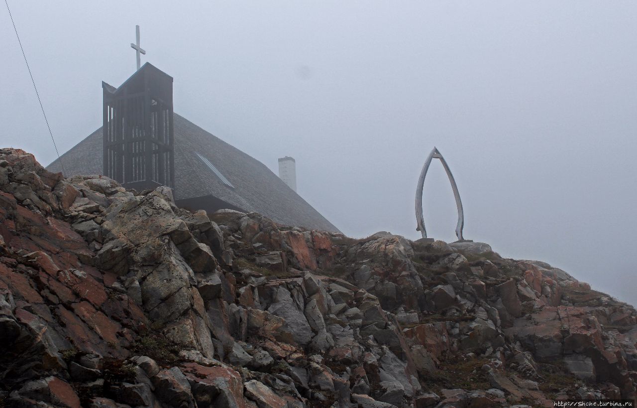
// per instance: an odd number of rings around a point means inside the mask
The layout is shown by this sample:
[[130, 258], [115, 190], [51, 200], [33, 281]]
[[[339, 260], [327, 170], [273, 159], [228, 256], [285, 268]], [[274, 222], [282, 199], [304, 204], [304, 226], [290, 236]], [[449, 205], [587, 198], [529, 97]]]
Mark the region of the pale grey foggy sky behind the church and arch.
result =
[[[637, 303], [637, 2], [192, 3], [9, 1], [61, 153], [101, 126], [101, 81], [134, 72], [139, 24], [175, 112], [275, 172], [293, 156], [298, 193], [347, 235], [419, 238], [435, 145], [465, 238]], [[0, 38], [0, 145], [46, 165], [4, 4]], [[438, 161], [424, 196], [429, 236], [455, 240]]]

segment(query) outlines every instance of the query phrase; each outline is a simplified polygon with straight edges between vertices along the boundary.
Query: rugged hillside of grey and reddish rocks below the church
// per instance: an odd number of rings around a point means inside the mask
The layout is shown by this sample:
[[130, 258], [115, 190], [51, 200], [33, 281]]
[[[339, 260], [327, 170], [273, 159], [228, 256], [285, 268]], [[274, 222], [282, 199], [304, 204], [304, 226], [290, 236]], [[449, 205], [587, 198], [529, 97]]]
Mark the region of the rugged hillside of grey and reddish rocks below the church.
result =
[[0, 149], [0, 406], [635, 398], [637, 314], [486, 244], [354, 240]]

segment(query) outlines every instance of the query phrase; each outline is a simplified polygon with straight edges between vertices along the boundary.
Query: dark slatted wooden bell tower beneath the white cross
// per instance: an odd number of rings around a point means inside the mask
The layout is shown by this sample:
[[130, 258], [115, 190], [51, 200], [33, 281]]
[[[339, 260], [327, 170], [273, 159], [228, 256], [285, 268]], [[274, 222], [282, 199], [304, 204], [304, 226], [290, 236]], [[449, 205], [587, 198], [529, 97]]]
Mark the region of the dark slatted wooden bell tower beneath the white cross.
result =
[[102, 89], [103, 174], [138, 191], [174, 188], [173, 77], [147, 62], [120, 87]]

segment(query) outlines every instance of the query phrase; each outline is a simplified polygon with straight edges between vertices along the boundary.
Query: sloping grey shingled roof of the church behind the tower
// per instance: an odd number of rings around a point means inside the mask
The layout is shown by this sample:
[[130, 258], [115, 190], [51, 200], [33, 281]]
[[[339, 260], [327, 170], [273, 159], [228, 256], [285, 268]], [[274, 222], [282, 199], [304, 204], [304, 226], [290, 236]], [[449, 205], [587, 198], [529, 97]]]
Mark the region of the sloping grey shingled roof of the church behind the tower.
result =
[[[227, 186], [197, 153], [227, 179]], [[62, 154], [65, 177], [102, 174], [102, 128]], [[62, 171], [58, 159], [47, 166]], [[278, 224], [339, 232], [263, 163], [175, 113], [175, 199], [214, 196], [245, 212], [258, 212]]]

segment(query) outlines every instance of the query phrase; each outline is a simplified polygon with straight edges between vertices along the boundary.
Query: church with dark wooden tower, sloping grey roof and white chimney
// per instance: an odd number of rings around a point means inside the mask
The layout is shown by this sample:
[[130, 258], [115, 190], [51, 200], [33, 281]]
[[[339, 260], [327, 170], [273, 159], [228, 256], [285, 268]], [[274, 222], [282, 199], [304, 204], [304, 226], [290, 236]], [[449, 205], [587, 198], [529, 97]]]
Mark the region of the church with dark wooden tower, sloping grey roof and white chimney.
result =
[[[177, 205], [189, 210], [258, 212], [282, 225], [339, 232], [296, 193], [292, 157], [280, 159], [284, 181], [177, 115], [173, 78], [152, 64], [118, 88], [102, 82], [102, 89], [103, 126], [62, 154], [64, 177], [101, 174], [137, 191], [169, 186]], [[60, 160], [47, 170], [62, 171]]]

